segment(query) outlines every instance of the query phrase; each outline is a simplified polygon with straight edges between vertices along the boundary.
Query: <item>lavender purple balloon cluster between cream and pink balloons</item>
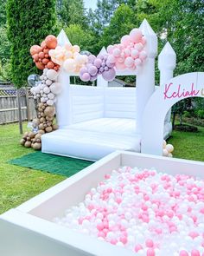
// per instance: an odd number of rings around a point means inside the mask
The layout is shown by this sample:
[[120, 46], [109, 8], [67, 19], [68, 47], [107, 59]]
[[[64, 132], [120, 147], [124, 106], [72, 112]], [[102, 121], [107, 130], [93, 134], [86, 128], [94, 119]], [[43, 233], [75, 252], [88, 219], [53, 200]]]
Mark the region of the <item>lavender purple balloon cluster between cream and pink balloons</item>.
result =
[[86, 66], [80, 69], [80, 79], [84, 82], [94, 81], [98, 75], [102, 75], [106, 81], [112, 81], [116, 76], [114, 60], [107, 54], [88, 56]]

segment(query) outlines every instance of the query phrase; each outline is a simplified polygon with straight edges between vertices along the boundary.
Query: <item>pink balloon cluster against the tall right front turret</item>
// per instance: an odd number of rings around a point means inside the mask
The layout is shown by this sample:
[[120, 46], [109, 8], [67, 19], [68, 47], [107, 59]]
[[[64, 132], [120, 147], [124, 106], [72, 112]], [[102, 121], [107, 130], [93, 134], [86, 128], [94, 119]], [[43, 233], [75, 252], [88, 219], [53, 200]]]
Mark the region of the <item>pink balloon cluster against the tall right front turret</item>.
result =
[[107, 52], [112, 61], [114, 60], [116, 69], [135, 70], [147, 57], [145, 43], [142, 31], [133, 29], [129, 35], [121, 38], [120, 43], [109, 45]]

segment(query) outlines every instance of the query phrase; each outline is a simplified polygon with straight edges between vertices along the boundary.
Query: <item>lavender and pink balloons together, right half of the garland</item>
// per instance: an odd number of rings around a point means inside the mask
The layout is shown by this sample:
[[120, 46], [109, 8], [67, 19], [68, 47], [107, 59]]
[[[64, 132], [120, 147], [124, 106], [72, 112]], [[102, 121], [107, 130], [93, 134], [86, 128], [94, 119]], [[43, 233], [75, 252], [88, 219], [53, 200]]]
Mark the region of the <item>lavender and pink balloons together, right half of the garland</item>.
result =
[[137, 69], [147, 57], [145, 43], [141, 30], [131, 30], [130, 35], [123, 36], [120, 43], [109, 45], [107, 54], [88, 56], [88, 62], [80, 69], [80, 79], [84, 82], [94, 81], [98, 75], [102, 75], [106, 81], [112, 81], [116, 75], [115, 69]]

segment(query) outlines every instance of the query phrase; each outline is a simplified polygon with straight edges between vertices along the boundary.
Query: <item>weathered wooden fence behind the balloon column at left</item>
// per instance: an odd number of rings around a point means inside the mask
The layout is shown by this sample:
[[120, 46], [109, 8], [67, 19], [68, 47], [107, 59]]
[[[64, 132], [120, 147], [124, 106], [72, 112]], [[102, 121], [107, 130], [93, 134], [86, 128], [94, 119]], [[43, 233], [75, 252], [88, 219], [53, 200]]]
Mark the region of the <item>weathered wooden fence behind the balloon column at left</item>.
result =
[[0, 124], [19, 121], [18, 97], [21, 103], [22, 120], [32, 120], [36, 117], [33, 96], [29, 88], [0, 88]]

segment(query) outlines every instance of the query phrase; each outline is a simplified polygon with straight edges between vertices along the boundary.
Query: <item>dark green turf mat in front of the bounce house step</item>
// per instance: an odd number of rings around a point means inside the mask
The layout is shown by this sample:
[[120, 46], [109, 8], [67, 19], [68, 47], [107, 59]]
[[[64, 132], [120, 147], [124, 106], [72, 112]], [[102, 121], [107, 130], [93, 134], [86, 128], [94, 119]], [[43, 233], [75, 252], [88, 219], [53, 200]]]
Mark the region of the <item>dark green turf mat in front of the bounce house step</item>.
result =
[[60, 174], [70, 177], [73, 174], [80, 172], [83, 168], [90, 166], [92, 161], [84, 161], [54, 154], [43, 154], [41, 151], [37, 151], [10, 160], [9, 163], [45, 171], [51, 174]]

